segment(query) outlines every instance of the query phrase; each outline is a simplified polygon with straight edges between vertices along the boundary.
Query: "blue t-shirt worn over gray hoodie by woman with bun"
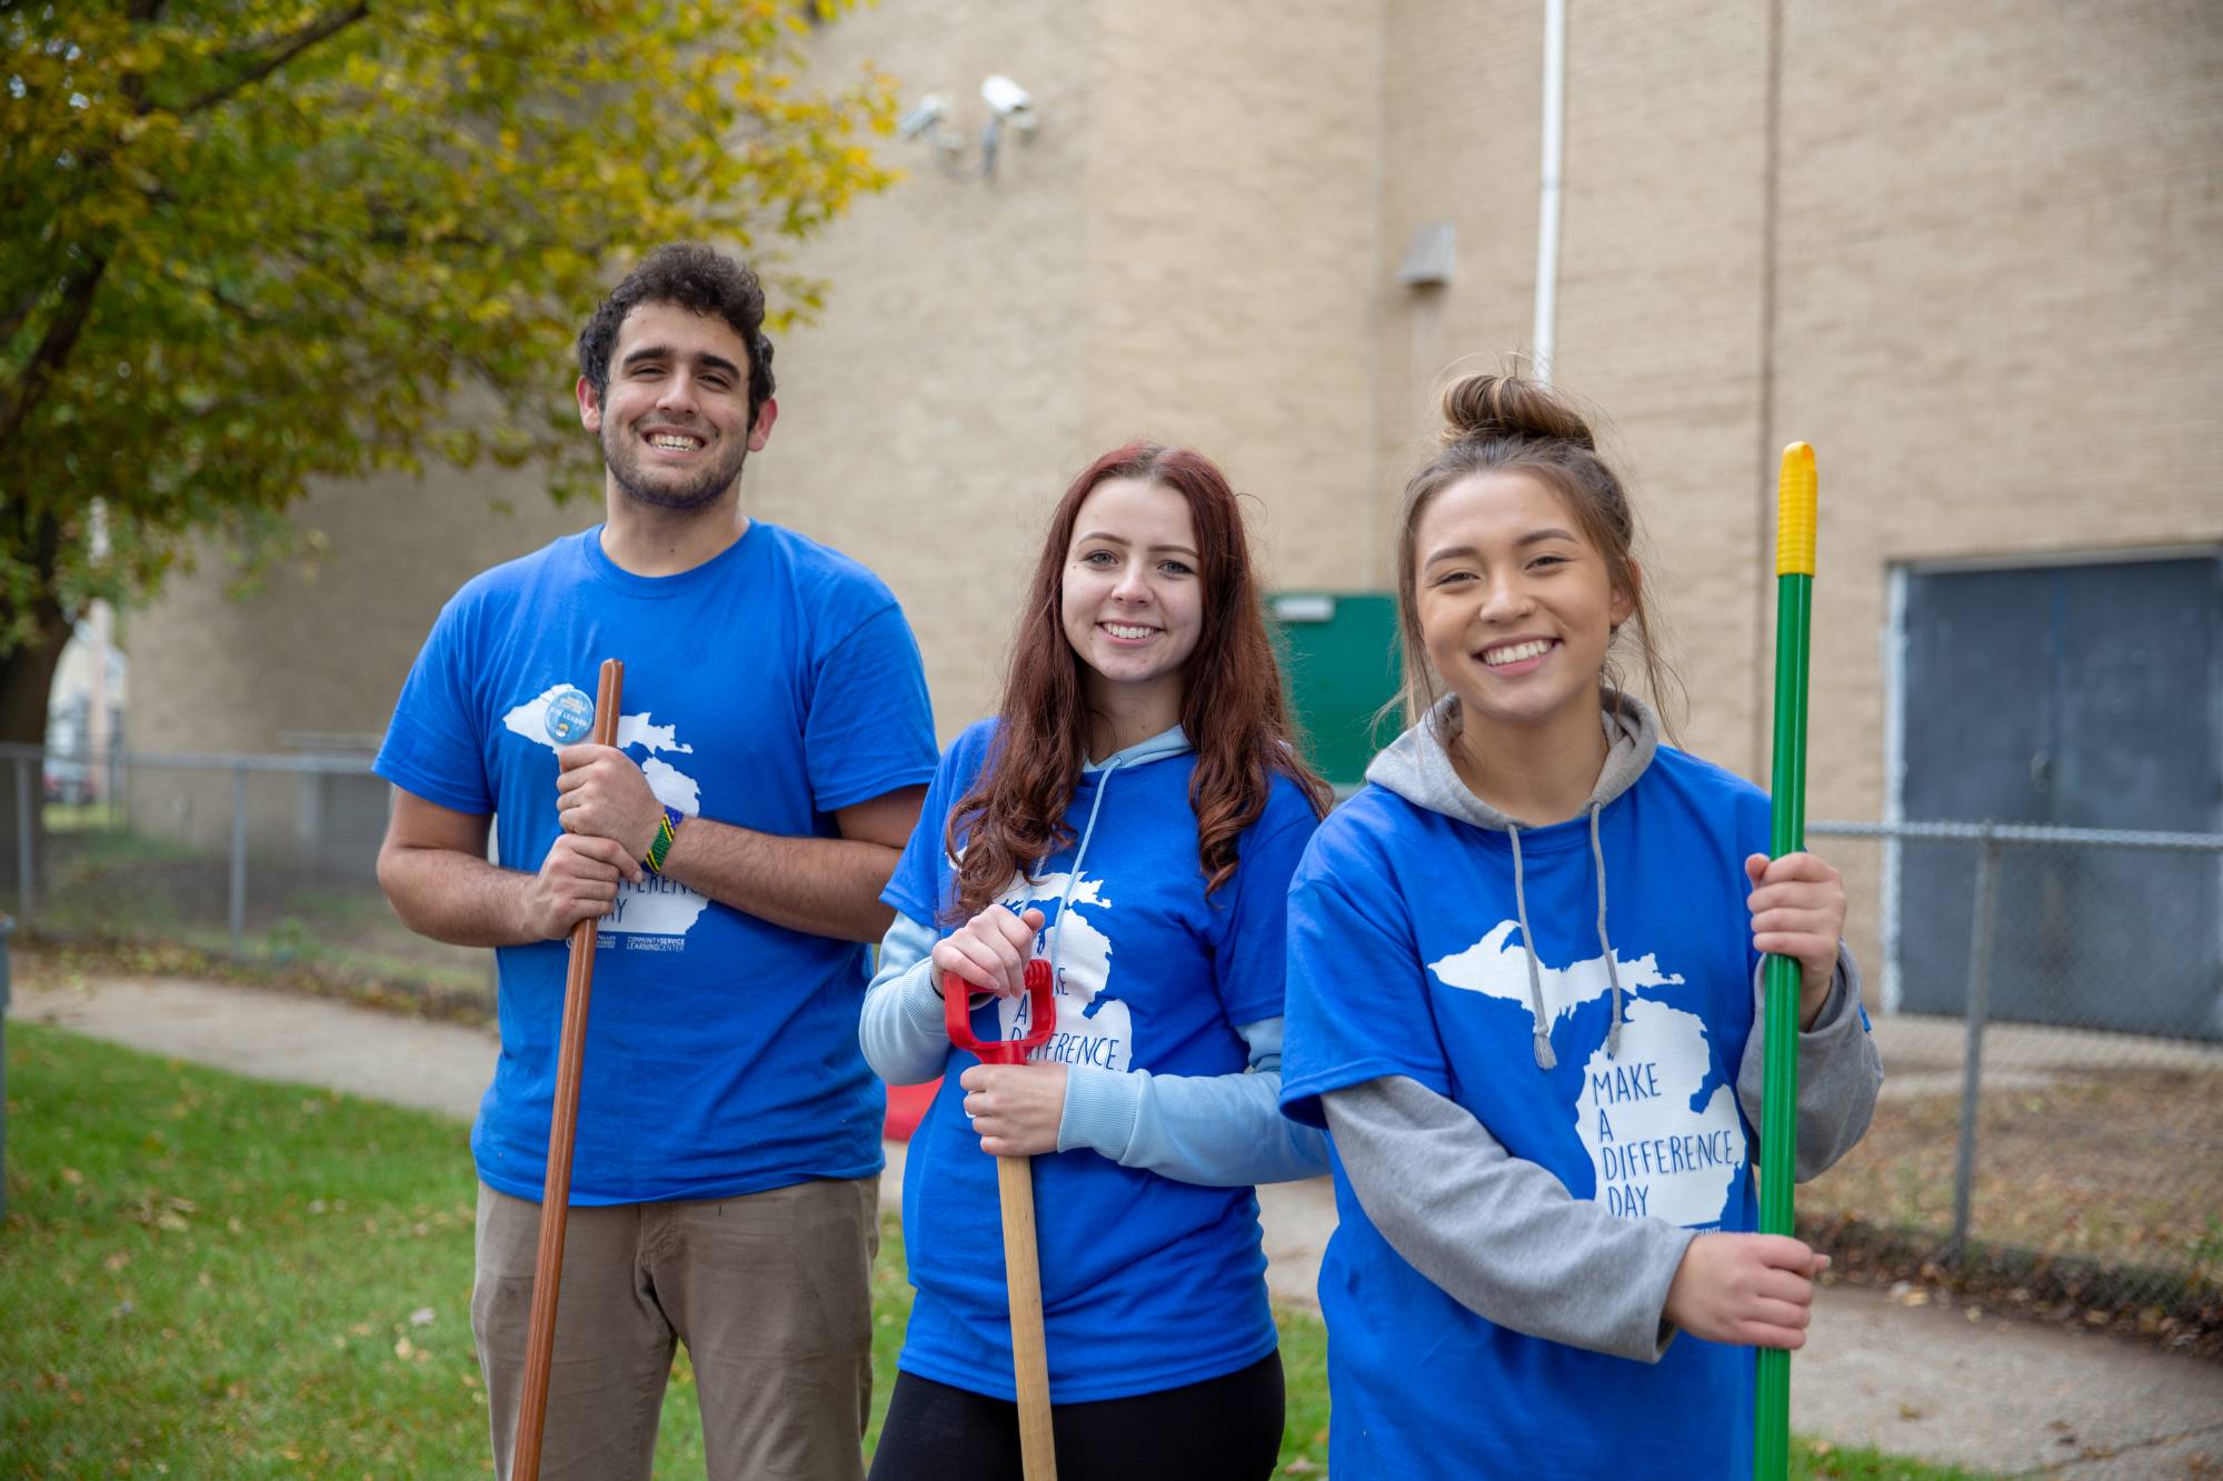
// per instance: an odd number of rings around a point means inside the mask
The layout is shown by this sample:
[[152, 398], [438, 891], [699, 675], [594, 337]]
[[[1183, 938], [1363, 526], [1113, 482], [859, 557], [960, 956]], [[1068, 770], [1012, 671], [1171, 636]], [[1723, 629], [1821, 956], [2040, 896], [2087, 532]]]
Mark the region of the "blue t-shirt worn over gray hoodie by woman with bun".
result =
[[[1507, 836], [1369, 785], [1320, 827], [1289, 892], [1283, 1110], [1323, 1125], [1323, 1092], [1400, 1074], [1576, 1199], [1752, 1230], [1756, 1127], [1736, 1070], [1758, 958], [1743, 861], [1767, 852], [1767, 796], [1661, 747], [1598, 823], [1625, 994], [1614, 1058], [1587, 816], [1521, 832], [1558, 1058], [1538, 1070]], [[1752, 1472], [1750, 1348], [1681, 1334], [1647, 1365], [1498, 1328], [1380, 1236], [1340, 1154], [1334, 1174], [1340, 1225], [1320, 1265], [1334, 1474]]]

